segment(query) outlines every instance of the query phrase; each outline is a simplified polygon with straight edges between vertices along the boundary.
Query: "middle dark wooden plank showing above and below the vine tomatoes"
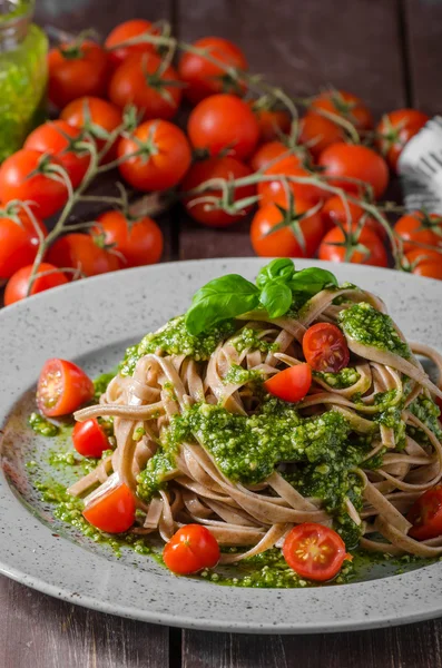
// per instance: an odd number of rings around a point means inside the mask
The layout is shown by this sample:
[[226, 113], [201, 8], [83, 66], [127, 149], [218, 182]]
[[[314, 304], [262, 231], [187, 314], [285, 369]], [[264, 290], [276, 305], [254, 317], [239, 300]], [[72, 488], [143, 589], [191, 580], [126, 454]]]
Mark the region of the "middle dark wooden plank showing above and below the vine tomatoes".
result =
[[[396, 0], [183, 0], [178, 7], [180, 39], [234, 40], [253, 71], [292, 95], [333, 85], [360, 95], [376, 115], [405, 102]], [[218, 232], [181, 220], [183, 259], [252, 254], [246, 224]]]

